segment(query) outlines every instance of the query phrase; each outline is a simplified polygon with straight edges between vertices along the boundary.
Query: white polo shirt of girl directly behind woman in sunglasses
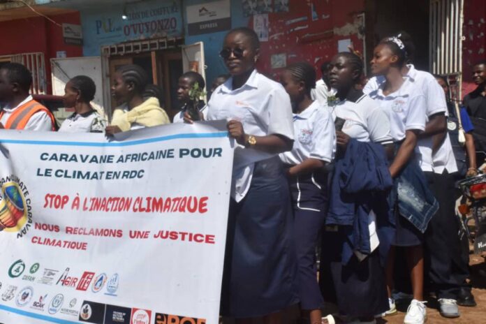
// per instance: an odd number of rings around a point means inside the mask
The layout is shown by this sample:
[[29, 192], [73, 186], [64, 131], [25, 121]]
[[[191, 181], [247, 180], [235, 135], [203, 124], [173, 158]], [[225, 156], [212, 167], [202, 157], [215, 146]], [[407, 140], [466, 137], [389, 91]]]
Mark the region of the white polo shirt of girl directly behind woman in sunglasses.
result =
[[318, 101], [293, 115], [293, 149], [280, 154], [283, 163], [297, 165], [312, 158], [331, 162], [336, 152], [336, 130], [332, 115]]

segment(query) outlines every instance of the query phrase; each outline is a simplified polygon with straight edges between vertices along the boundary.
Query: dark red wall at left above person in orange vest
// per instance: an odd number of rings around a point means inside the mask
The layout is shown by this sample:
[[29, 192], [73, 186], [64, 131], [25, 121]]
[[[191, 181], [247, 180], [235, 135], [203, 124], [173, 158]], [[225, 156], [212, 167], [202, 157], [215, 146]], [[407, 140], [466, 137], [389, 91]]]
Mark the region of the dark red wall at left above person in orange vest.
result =
[[[79, 13], [68, 13], [50, 17], [58, 24], [80, 24]], [[62, 28], [44, 17], [32, 17], [22, 20], [0, 22], [2, 45], [0, 55], [43, 52], [47, 93], [52, 93], [50, 77], [50, 59], [56, 57], [57, 51], [66, 51], [67, 57], [81, 57], [82, 47], [65, 45]]]

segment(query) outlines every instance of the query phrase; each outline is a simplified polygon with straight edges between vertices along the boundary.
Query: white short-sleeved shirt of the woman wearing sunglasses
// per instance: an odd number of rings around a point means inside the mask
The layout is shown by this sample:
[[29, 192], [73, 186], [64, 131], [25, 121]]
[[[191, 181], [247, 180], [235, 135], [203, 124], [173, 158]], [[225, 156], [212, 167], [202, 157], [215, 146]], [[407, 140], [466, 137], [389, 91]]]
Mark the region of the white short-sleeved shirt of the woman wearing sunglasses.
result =
[[[229, 78], [214, 90], [207, 103], [208, 120], [237, 120], [243, 124], [246, 134], [266, 136], [293, 136], [292, 107], [282, 85], [253, 71], [239, 89], [233, 89]], [[233, 191], [236, 201], [244, 198], [250, 188], [256, 162], [270, 159], [276, 154], [246, 149], [237, 145], [233, 162]]]

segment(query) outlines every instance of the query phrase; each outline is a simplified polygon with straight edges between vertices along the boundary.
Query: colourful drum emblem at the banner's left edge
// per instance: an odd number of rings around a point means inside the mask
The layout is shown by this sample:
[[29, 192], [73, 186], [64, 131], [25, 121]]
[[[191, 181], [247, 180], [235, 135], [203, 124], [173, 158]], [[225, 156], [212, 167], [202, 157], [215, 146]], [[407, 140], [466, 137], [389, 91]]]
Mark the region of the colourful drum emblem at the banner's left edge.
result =
[[27, 223], [27, 203], [20, 186], [7, 182], [0, 193], [0, 231], [19, 232]]

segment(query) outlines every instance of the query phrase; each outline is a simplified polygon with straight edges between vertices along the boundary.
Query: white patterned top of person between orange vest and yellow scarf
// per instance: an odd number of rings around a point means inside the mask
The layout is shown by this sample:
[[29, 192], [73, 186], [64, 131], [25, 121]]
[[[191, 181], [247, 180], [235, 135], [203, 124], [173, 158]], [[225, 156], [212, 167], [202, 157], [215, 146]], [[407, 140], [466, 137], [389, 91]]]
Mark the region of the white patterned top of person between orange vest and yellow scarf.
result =
[[106, 128], [106, 121], [98, 112], [91, 110], [84, 114], [77, 112], [66, 118], [59, 132], [64, 133], [103, 133]]

